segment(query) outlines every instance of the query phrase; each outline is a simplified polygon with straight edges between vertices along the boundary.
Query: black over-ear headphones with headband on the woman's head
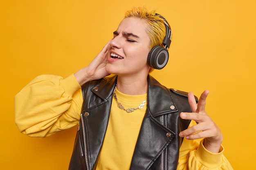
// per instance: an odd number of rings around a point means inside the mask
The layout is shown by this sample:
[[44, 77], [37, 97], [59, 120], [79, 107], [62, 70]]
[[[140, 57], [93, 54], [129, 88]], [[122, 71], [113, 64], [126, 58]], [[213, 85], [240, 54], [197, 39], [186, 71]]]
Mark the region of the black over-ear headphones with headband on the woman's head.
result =
[[[156, 15], [159, 15], [159, 14], [156, 13]], [[159, 45], [154, 46], [148, 53], [147, 62], [150, 67], [160, 70], [164, 68], [164, 66], [166, 66], [168, 62], [169, 53], [167, 49], [170, 47], [170, 44], [171, 44], [171, 28], [169, 27], [169, 24], [166, 21], [166, 19], [162, 15], [159, 15], [159, 16], [163, 18], [164, 21], [167, 23], [167, 24], [164, 23], [166, 28], [166, 35], [162, 43], [164, 47]]]

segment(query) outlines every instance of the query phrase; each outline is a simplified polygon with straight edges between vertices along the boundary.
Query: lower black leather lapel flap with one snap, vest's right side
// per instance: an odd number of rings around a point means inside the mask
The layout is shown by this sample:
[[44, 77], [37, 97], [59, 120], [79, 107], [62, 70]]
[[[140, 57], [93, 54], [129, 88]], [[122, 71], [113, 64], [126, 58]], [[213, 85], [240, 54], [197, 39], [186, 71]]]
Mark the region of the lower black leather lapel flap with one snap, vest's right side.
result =
[[130, 170], [148, 170], [174, 136], [174, 132], [156, 121], [150, 111], [147, 110], [141, 125]]

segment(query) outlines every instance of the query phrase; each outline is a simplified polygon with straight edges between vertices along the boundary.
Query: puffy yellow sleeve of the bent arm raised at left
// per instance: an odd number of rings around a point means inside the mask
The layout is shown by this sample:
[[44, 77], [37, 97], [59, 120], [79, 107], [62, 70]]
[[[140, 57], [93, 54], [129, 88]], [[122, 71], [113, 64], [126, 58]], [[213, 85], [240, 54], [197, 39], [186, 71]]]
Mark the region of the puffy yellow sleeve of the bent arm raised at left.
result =
[[25, 135], [47, 137], [78, 124], [83, 103], [74, 75], [40, 75], [14, 98], [15, 123]]

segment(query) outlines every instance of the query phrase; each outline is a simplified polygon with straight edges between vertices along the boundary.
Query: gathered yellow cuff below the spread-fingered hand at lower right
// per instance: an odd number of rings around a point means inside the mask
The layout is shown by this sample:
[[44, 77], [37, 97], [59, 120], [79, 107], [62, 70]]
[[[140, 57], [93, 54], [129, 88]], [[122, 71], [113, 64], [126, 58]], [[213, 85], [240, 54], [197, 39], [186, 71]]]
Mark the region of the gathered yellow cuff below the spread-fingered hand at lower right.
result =
[[195, 157], [200, 163], [202, 163], [202, 165], [208, 168], [216, 168], [216, 166], [219, 166], [222, 163], [221, 156], [223, 154], [224, 148], [223, 146], [220, 146], [219, 153], [212, 153], [204, 148], [203, 142], [204, 140], [200, 141], [198, 150], [195, 151]]

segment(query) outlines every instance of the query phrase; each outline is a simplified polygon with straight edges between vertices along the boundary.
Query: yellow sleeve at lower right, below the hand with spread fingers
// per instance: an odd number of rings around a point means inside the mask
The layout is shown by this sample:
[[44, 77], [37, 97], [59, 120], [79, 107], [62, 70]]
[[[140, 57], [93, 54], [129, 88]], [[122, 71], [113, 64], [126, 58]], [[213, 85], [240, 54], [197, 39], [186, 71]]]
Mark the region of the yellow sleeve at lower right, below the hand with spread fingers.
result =
[[[193, 121], [189, 127], [193, 126]], [[180, 147], [180, 157], [177, 170], [233, 170], [227, 158], [223, 155], [224, 148], [219, 153], [211, 153], [203, 145], [204, 139], [183, 140]]]

